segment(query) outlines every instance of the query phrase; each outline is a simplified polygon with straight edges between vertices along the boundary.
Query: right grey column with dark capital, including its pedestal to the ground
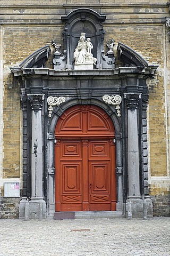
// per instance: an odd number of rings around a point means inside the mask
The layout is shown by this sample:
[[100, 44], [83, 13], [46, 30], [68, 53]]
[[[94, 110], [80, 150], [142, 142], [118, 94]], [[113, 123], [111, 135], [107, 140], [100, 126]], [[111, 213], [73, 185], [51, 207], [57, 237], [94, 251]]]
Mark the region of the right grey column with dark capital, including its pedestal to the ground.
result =
[[[126, 212], [131, 211], [134, 218], [143, 216], [143, 201], [140, 196], [139, 177], [139, 141], [138, 141], [138, 116], [140, 93], [125, 93], [128, 108], [128, 187], [129, 196], [126, 201]], [[130, 203], [130, 204], [129, 204]], [[131, 205], [131, 210], [129, 210]]]

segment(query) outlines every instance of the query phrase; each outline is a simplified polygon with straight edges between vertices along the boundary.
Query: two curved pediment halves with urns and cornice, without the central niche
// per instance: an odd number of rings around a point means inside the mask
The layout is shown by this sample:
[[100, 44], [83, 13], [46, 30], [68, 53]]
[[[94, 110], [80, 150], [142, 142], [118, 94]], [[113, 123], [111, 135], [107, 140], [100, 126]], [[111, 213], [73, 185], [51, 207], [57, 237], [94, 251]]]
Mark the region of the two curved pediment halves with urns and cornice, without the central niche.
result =
[[[56, 46], [57, 48], [57, 46]], [[60, 48], [60, 47], [59, 47]], [[54, 53], [55, 57], [57, 57], [57, 65], [61, 65], [61, 69], [57, 68], [55, 69], [49, 69], [45, 68], [45, 62], [49, 58], [50, 54], [50, 47], [49, 45], [46, 45], [44, 47], [41, 47], [37, 51], [33, 52], [29, 57], [27, 57], [25, 60], [23, 60], [19, 66], [11, 67], [11, 71], [15, 76], [22, 76], [22, 75], [36, 75], [36, 74], [45, 74], [45, 75], [106, 75], [106, 70], [108, 70], [109, 75], [118, 75], [123, 73], [143, 73], [147, 75], [153, 75], [157, 69], [157, 65], [149, 65], [148, 62], [141, 57], [140, 54], [135, 52], [133, 49], [131, 49], [129, 46], [124, 45], [123, 43], [118, 43], [118, 53], [120, 55], [120, 60], [124, 62], [124, 66], [120, 67], [112, 67], [108, 68], [107, 63], [110, 63], [114, 65], [114, 53], [112, 50], [109, 50], [107, 55], [104, 54], [104, 52], [101, 52], [101, 58], [104, 59], [105, 62], [102, 62], [103, 67], [100, 69], [94, 69], [94, 70], [69, 70], [66, 68], [66, 64], [62, 63], [62, 61], [66, 61], [66, 53], [61, 56], [61, 53], [59, 52], [59, 48], [57, 48], [56, 52]], [[112, 58], [110, 58], [110, 56]], [[64, 62], [63, 61], [63, 62]], [[112, 62], [113, 61], [113, 62]], [[107, 62], [107, 63], [106, 63]], [[54, 63], [54, 60], [53, 60]], [[62, 64], [61, 64], [62, 63]], [[55, 66], [55, 65], [54, 65]], [[99, 71], [100, 70], [100, 71]], [[102, 71], [103, 70], [103, 71]], [[104, 72], [104, 73], [103, 73]]]

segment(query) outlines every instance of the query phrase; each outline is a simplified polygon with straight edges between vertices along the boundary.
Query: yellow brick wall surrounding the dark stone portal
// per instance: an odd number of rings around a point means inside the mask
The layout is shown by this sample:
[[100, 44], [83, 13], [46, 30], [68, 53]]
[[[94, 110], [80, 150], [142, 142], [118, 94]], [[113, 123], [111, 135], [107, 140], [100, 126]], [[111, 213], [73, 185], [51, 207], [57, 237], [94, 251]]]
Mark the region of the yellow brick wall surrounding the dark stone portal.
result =
[[[105, 43], [114, 38], [115, 51], [117, 43], [122, 42], [132, 47], [150, 63], [159, 65], [154, 79], [148, 81], [150, 175], [159, 177], [157, 182], [152, 182], [150, 179], [150, 192], [152, 195], [162, 194], [165, 191], [169, 193], [167, 176], [169, 172], [170, 78], [169, 71], [165, 73], [165, 69], [170, 70], [170, 43], [166, 35], [167, 28], [162, 22], [169, 15], [165, 0], [161, 3], [157, 0], [97, 0], [93, 3], [87, 0], [15, 0], [15, 6], [12, 0], [0, 1], [4, 63], [3, 84], [0, 89], [0, 94], [3, 95], [2, 87], [4, 86], [4, 158], [3, 174], [1, 169], [0, 178], [20, 178], [21, 172], [20, 85], [15, 83], [12, 89], [8, 88], [12, 83], [9, 67], [19, 64], [32, 52], [50, 44], [53, 39], [62, 44], [64, 24], [61, 21], [61, 15], [74, 10], [75, 6], [76, 8], [84, 7], [87, 3], [89, 3], [88, 7], [92, 5], [92, 9], [107, 15], [104, 23]], [[34, 7], [31, 7], [33, 5]], [[1, 130], [0, 135], [2, 136]], [[2, 148], [2, 144], [0, 147]], [[0, 154], [2, 155], [2, 151]], [[165, 180], [160, 177], [165, 177]]]

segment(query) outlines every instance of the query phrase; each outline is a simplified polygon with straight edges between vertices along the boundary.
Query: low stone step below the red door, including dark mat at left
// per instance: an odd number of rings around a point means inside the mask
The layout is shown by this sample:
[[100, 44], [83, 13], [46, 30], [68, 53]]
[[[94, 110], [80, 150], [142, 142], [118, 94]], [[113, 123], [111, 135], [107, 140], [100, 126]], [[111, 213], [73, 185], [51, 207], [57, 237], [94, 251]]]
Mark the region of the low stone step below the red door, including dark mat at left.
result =
[[55, 212], [54, 220], [64, 219], [113, 219], [125, 218], [122, 211], [83, 211], [83, 212]]

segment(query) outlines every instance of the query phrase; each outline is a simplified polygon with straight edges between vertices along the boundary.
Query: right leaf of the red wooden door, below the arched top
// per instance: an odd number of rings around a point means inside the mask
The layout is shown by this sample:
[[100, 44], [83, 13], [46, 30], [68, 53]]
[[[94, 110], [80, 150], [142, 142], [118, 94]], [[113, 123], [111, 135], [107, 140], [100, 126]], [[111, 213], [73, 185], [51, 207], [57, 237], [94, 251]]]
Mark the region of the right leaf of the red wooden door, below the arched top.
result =
[[116, 211], [114, 143], [94, 140], [89, 149], [89, 210]]

